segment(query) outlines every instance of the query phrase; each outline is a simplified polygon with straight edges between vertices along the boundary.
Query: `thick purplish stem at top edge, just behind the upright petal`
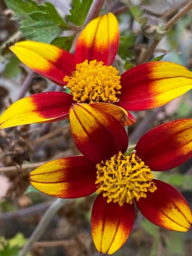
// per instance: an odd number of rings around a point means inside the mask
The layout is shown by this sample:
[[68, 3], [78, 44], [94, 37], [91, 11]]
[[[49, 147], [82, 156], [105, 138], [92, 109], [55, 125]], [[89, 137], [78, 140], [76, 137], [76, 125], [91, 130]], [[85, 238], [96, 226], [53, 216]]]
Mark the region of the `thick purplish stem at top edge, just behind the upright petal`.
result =
[[94, 18], [98, 16], [105, 0], [93, 0], [92, 5], [87, 13], [87, 17], [82, 26], [82, 29]]

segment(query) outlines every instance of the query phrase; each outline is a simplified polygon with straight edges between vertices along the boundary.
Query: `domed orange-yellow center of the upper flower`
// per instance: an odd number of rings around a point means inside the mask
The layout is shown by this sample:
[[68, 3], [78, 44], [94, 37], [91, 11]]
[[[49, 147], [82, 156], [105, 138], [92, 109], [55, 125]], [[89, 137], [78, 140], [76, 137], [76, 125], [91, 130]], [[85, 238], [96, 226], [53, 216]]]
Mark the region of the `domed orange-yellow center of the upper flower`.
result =
[[84, 103], [108, 102], [118, 100], [120, 93], [120, 75], [113, 66], [104, 66], [102, 61], [92, 60], [76, 65], [71, 76], [65, 76], [67, 87], [73, 94], [74, 101]]

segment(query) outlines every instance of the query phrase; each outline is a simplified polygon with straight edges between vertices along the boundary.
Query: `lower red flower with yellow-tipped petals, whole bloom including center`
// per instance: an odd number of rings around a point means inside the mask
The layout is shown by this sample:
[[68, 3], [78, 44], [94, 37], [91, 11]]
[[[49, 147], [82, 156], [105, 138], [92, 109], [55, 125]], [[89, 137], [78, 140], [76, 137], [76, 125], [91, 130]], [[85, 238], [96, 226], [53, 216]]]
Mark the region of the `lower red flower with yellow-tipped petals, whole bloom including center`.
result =
[[91, 233], [102, 253], [112, 254], [126, 242], [134, 224], [134, 202], [153, 224], [188, 231], [192, 215], [187, 201], [168, 183], [153, 179], [152, 171], [169, 170], [192, 156], [192, 119], [153, 128], [127, 154], [123, 126], [90, 108], [84, 103], [70, 108], [72, 135], [83, 155], [43, 164], [30, 173], [31, 185], [59, 198], [99, 193], [92, 208]]

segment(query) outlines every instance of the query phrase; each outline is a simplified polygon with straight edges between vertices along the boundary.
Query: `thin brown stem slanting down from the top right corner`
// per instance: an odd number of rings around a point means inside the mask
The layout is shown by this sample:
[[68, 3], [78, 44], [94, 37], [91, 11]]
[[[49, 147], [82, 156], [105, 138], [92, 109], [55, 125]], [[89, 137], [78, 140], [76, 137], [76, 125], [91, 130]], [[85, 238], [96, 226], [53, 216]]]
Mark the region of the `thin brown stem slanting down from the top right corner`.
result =
[[[164, 27], [164, 31], [168, 31], [184, 14], [186, 14], [190, 9], [192, 8], [192, 1], [190, 1], [188, 4], [186, 4], [180, 11], [179, 13], [175, 14], [175, 16], [173, 16], [170, 21], [166, 24], [166, 26]], [[163, 36], [162, 36], [163, 37]], [[151, 57], [151, 55], [153, 54], [153, 51], [155, 49], [155, 47], [158, 45], [158, 43], [160, 42], [160, 40], [162, 39], [162, 37], [160, 39], [155, 39], [152, 43], [152, 45], [150, 46], [150, 48], [145, 52], [145, 54], [143, 55], [143, 57], [140, 59], [138, 64], [144, 63], [146, 61], [148, 61]]]

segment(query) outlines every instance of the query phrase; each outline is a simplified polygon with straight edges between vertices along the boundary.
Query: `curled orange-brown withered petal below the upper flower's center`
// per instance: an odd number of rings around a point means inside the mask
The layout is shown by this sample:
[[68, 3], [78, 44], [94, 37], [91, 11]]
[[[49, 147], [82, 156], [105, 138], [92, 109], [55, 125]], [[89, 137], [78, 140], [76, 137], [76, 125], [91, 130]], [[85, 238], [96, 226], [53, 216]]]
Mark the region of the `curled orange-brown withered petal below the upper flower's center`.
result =
[[135, 118], [121, 107], [110, 103], [91, 103], [90, 105], [115, 117], [124, 126], [135, 123]]

